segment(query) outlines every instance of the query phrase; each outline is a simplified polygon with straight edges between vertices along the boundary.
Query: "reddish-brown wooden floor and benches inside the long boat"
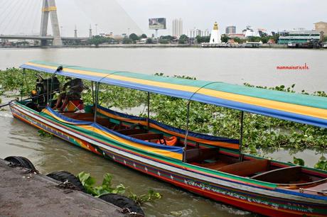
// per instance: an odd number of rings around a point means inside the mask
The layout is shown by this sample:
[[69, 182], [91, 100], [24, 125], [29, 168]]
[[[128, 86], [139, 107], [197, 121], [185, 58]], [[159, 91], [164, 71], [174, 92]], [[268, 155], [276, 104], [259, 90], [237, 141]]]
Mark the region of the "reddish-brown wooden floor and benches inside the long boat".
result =
[[[93, 113], [63, 113], [63, 115], [80, 121], [94, 121]], [[124, 126], [122, 121], [112, 123], [109, 118], [102, 116], [98, 116], [96, 121], [106, 128], [132, 138], [166, 144], [164, 133], [149, 132], [147, 128], [138, 124]], [[187, 146], [183, 152], [183, 162], [277, 184], [306, 184], [320, 182], [323, 179], [304, 173], [301, 166], [276, 167], [270, 160], [253, 158], [240, 162], [238, 157], [222, 154], [220, 148], [199, 148], [198, 145]]]

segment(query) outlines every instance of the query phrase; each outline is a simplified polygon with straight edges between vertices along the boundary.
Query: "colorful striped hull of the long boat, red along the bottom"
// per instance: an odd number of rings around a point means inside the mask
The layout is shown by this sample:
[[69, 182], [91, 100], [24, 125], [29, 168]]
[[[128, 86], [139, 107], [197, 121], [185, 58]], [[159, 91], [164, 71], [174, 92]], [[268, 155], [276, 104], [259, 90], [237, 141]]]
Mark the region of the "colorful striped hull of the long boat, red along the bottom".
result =
[[266, 216], [327, 216], [326, 196], [299, 194], [281, 189], [277, 184], [203, 169], [170, 157], [129, 149], [124, 144], [117, 145], [110, 138], [103, 139], [97, 133], [87, 133], [87, 129], [62, 123], [18, 102], [12, 102], [10, 108], [15, 118], [69, 143], [215, 201]]

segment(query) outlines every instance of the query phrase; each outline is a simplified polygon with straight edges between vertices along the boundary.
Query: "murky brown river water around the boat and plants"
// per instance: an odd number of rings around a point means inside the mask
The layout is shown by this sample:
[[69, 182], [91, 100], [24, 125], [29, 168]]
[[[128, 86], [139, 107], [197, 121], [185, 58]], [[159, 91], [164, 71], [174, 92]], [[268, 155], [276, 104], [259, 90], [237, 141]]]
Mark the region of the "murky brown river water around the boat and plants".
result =
[[[327, 50], [286, 49], [201, 49], [201, 48], [55, 48], [0, 49], [0, 69], [18, 67], [28, 60], [46, 60], [85, 67], [154, 74], [185, 74], [215, 80], [273, 87], [296, 84], [296, 90], [327, 91]], [[306, 70], [278, 70], [277, 66], [306, 65]], [[9, 101], [2, 98], [3, 103]], [[257, 216], [232, 206], [188, 193], [170, 184], [77, 148], [58, 138], [42, 138], [38, 130], [0, 111], [0, 157], [28, 157], [41, 173], [67, 170], [74, 174], [91, 172], [98, 182], [106, 172], [114, 184], [122, 183], [137, 194], [148, 189], [163, 198], [142, 208], [147, 216]], [[326, 151], [324, 151], [326, 153]], [[314, 150], [266, 151], [276, 160], [292, 161], [293, 156], [313, 166], [321, 152]]]

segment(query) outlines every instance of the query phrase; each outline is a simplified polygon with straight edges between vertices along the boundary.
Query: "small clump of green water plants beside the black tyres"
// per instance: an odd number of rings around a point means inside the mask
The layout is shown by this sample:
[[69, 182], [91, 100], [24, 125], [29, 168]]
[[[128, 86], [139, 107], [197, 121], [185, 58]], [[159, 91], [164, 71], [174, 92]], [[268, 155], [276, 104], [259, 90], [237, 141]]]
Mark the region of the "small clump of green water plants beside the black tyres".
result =
[[128, 187], [124, 187], [124, 184], [118, 184], [116, 187], [112, 187], [112, 174], [106, 173], [103, 176], [102, 185], [95, 186], [96, 180], [91, 177], [90, 173], [80, 172], [77, 175], [83, 187], [85, 187], [88, 194], [92, 196], [101, 196], [103, 194], [124, 194], [126, 191], [129, 193], [129, 198], [133, 199], [136, 204], [144, 204], [145, 202], [151, 202], [156, 199], [161, 199], [161, 194], [149, 189], [147, 194], [136, 195], [129, 190]]

